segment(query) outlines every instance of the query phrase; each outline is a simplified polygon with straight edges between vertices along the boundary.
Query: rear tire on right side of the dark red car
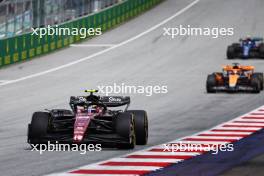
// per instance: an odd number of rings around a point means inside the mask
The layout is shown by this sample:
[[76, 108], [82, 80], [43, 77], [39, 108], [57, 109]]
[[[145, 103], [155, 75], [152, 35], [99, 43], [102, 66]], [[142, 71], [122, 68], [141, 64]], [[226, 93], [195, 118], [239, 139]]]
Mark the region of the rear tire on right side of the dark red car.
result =
[[136, 144], [146, 145], [148, 142], [148, 115], [144, 110], [129, 110], [135, 119]]

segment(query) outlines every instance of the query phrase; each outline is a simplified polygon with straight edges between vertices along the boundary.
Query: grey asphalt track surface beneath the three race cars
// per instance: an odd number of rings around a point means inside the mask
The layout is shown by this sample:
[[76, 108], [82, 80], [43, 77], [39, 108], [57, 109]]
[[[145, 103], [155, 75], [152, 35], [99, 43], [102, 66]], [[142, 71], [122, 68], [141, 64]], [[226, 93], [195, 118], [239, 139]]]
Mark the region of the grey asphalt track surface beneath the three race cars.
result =
[[[152, 28], [192, 1], [167, 0], [156, 8], [106, 34], [82, 44], [119, 44]], [[200, 0], [166, 24], [116, 49], [67, 68], [0, 87], [1, 175], [43, 175], [105, 160], [131, 151], [31, 152], [26, 143], [32, 112], [68, 108], [71, 95], [85, 88], [112, 85], [167, 85], [168, 94], [132, 95], [131, 108], [149, 114], [148, 146], [191, 135], [230, 120], [264, 104], [260, 94], [206, 94], [208, 73], [220, 71], [228, 44], [248, 34], [263, 35], [262, 0]], [[164, 37], [163, 27], [192, 25], [234, 27], [231, 37]], [[0, 80], [16, 80], [59, 67], [105, 47], [70, 47], [30, 62], [0, 70]], [[237, 60], [264, 70], [263, 60]], [[145, 146], [147, 147], [147, 146]], [[137, 147], [136, 150], [144, 147]], [[262, 160], [263, 161], [263, 160]], [[263, 170], [262, 170], [263, 171]]]

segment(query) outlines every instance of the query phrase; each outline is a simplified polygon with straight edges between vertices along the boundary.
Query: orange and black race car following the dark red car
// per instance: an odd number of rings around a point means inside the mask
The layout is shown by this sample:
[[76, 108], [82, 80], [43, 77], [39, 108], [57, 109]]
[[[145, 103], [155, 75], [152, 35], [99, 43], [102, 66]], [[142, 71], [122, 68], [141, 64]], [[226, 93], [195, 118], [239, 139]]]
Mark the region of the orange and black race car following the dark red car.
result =
[[263, 73], [254, 72], [254, 69], [254, 66], [243, 66], [238, 63], [225, 65], [222, 72], [214, 72], [208, 75], [207, 92], [247, 91], [259, 93], [263, 90]]

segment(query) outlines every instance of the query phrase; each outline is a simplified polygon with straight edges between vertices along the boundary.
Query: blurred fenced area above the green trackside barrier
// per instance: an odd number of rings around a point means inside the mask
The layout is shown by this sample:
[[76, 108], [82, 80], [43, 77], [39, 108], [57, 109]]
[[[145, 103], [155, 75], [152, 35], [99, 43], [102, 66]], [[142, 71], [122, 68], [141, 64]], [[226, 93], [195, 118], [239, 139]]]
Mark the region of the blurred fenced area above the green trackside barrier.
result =
[[0, 0], [0, 39], [61, 24], [124, 0]]

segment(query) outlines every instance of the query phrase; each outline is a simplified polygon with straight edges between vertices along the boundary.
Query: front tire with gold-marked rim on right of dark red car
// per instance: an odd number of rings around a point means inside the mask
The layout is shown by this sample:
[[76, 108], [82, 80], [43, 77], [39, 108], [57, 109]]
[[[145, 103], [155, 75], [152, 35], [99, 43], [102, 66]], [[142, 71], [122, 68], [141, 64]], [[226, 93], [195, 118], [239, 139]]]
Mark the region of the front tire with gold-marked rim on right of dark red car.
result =
[[127, 139], [128, 143], [117, 145], [119, 149], [133, 149], [136, 145], [135, 121], [133, 114], [120, 113], [116, 118], [116, 133]]

